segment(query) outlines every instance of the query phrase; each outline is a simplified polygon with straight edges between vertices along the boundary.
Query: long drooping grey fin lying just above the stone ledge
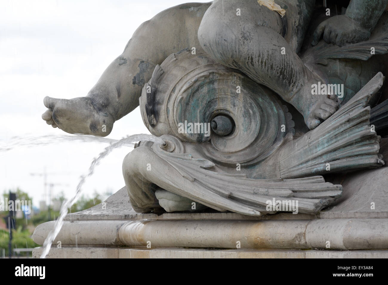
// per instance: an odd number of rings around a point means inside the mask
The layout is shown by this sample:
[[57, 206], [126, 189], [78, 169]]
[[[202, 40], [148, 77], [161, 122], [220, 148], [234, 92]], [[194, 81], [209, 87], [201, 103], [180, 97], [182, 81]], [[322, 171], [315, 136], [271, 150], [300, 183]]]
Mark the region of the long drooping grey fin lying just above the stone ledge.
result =
[[[210, 170], [206, 159], [166, 152], [154, 147], [154, 152], [185, 178], [185, 187], [176, 176], [164, 181], [163, 188], [190, 198], [213, 209], [225, 209], [244, 215], [257, 216], [267, 211], [268, 200], [298, 201], [298, 212], [314, 214], [341, 196], [342, 186], [325, 182], [322, 176], [296, 179], [252, 179]], [[153, 180], [158, 185], [158, 181]], [[166, 185], [167, 183], [167, 185]], [[170, 187], [171, 184], [171, 187]], [[294, 202], [293, 202], [294, 201]], [[291, 211], [291, 210], [290, 210]]]

